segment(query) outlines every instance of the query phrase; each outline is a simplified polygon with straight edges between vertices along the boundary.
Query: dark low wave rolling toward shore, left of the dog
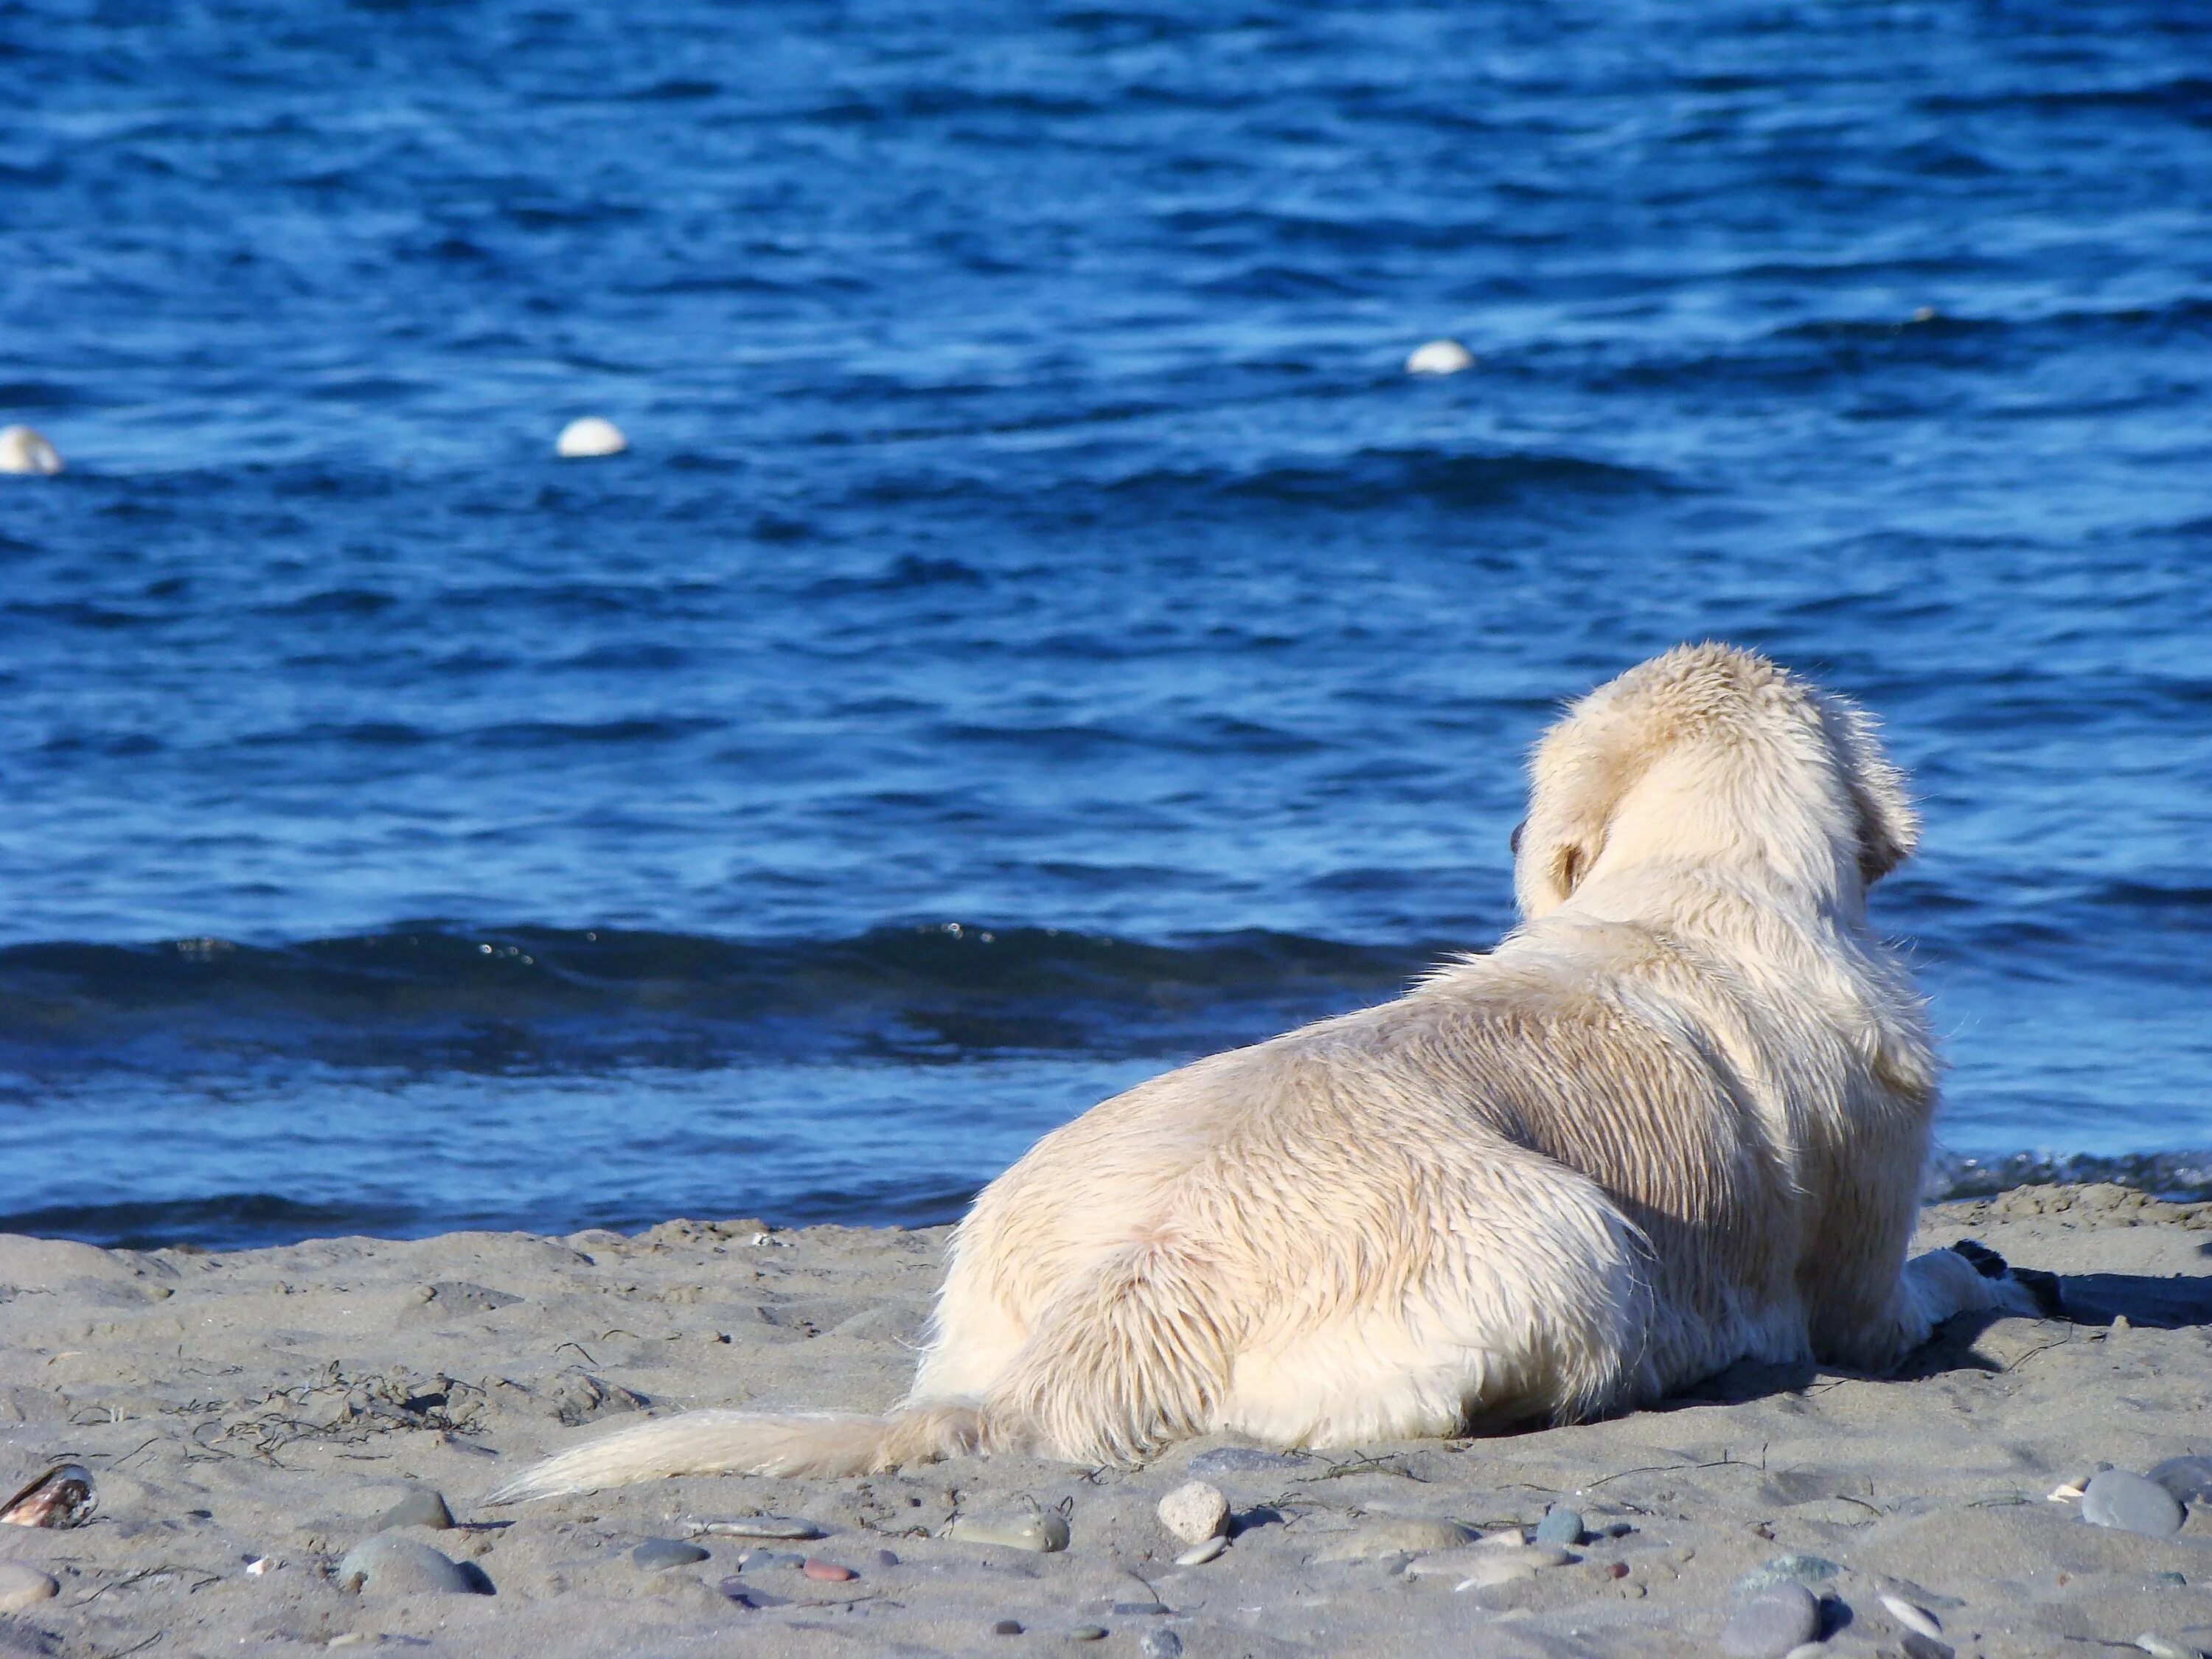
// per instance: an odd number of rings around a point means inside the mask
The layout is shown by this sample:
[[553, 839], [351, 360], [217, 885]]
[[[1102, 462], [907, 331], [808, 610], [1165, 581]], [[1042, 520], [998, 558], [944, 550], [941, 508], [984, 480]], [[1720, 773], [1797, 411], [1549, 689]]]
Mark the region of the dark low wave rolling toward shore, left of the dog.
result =
[[1442, 953], [964, 922], [763, 942], [445, 922], [281, 945], [35, 942], [0, 949], [0, 1068], [197, 1071], [246, 1055], [513, 1073], [1190, 1053], [1389, 998]]

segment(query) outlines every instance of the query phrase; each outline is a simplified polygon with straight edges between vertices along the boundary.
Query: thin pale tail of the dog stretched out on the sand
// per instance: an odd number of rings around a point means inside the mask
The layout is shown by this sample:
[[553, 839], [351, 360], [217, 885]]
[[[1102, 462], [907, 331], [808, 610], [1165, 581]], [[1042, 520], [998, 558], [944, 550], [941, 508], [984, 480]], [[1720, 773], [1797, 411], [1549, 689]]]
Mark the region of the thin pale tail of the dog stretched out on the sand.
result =
[[887, 1418], [686, 1411], [571, 1447], [484, 1502], [518, 1504], [670, 1475], [872, 1475], [956, 1458], [982, 1442], [984, 1418], [967, 1405], [902, 1407]]

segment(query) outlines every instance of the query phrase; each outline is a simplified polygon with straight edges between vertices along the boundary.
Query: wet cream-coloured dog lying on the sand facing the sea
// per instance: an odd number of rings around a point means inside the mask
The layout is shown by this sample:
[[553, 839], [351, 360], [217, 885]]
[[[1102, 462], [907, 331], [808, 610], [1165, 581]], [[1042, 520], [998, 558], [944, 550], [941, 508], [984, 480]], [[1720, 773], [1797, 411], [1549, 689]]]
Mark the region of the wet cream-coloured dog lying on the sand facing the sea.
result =
[[493, 1500], [1577, 1422], [2035, 1312], [1989, 1252], [1905, 1259], [1938, 1062], [1867, 887], [1918, 832], [1851, 703], [1668, 650], [1537, 743], [1493, 951], [1139, 1084], [991, 1181], [902, 1407], [641, 1422]]

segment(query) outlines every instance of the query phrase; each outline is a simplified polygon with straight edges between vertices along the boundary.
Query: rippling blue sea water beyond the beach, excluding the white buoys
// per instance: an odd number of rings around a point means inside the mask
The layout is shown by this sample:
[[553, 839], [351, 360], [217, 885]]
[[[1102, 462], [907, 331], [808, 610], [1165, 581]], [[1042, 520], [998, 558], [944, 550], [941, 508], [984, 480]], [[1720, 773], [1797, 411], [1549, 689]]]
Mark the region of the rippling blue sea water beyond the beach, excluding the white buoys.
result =
[[953, 1214], [1701, 635], [1947, 1146], [2212, 1183], [2205, 179], [2183, 4], [0, 0], [0, 1225]]

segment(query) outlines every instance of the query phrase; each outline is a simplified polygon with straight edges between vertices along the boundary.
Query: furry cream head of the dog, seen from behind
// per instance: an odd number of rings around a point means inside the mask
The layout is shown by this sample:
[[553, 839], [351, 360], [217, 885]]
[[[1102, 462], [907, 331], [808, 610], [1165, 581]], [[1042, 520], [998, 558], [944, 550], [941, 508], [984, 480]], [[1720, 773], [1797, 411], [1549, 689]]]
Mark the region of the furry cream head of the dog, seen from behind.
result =
[[1677, 646], [1537, 743], [1513, 889], [1535, 920], [1599, 874], [1697, 860], [1856, 907], [1920, 838], [1876, 739], [1840, 697], [1734, 646]]

